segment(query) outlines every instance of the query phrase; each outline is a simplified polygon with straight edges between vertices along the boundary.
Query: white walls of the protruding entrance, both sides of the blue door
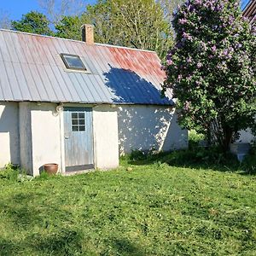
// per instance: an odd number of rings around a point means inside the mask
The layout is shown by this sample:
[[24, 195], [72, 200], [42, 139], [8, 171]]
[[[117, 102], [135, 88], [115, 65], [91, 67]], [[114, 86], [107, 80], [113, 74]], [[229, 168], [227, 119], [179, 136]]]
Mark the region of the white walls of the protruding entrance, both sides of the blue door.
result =
[[[24, 154], [23, 163], [33, 176], [37, 176], [46, 163], [57, 163], [59, 172], [65, 169], [63, 113], [56, 114], [54, 103], [20, 103], [20, 117], [24, 120], [20, 145], [31, 148]], [[65, 105], [66, 106], [66, 105]], [[88, 107], [83, 104], [67, 104], [69, 107]], [[26, 125], [26, 123], [30, 125]], [[117, 109], [110, 106], [93, 108], [95, 166], [111, 169], [119, 166]], [[31, 144], [30, 144], [31, 142]], [[31, 167], [30, 167], [31, 166]]]

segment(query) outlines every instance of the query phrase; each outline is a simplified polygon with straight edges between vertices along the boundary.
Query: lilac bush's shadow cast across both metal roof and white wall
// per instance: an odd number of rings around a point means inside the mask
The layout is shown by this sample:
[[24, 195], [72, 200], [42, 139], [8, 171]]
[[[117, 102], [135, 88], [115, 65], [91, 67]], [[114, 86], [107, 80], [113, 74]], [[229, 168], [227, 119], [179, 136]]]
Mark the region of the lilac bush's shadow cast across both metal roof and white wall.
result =
[[[119, 154], [132, 149], [170, 151], [187, 147], [187, 131], [177, 125], [172, 100], [162, 99], [160, 90], [132, 71], [111, 67], [104, 75], [116, 96], [113, 101], [126, 103], [119, 106], [118, 113]], [[136, 104], [129, 105], [131, 102]]]

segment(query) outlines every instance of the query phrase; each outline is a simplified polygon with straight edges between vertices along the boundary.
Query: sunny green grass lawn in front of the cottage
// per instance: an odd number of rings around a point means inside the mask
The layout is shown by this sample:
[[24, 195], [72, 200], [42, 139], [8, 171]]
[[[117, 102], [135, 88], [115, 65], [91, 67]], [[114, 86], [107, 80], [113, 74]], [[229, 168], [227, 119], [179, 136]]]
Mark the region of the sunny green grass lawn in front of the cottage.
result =
[[25, 182], [2, 175], [0, 254], [256, 255], [255, 176], [121, 165]]

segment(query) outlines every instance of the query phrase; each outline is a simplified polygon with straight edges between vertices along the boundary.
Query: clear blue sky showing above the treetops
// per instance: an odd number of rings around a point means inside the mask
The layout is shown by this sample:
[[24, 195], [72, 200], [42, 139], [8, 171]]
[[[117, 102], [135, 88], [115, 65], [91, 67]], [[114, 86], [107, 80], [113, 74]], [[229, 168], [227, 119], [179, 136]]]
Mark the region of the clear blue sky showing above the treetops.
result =
[[[86, 3], [95, 3], [96, 0], [88, 0]], [[249, 0], [241, 0], [241, 8], [243, 9]], [[38, 10], [42, 12], [38, 4], [38, 0], [0, 0], [1, 12], [6, 12], [11, 20], [20, 20], [21, 16], [32, 11]]]

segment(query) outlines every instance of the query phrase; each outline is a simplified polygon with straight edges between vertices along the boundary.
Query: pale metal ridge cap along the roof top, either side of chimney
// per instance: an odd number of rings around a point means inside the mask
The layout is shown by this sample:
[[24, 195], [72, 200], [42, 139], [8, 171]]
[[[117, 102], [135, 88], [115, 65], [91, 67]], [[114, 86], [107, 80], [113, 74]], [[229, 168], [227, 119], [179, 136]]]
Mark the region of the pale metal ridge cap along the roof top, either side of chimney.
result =
[[[30, 36], [36, 36], [36, 37], [42, 37], [42, 38], [54, 38], [54, 39], [61, 39], [61, 40], [67, 40], [67, 41], [72, 41], [72, 42], [77, 42], [80, 44], [84, 44], [85, 42], [75, 40], [75, 39], [69, 39], [69, 38], [59, 38], [59, 37], [53, 37], [53, 36], [46, 36], [46, 35], [41, 35], [41, 34], [36, 34], [36, 33], [30, 33], [30, 32], [20, 32], [20, 31], [15, 31], [11, 29], [3, 29], [0, 28], [0, 31], [3, 32], [15, 32], [15, 33], [20, 33], [20, 34], [25, 34], [25, 35], [30, 35]], [[86, 43], [85, 43], [86, 44]], [[113, 48], [120, 48], [120, 49], [133, 49], [137, 51], [146, 51], [146, 52], [151, 52], [151, 53], [156, 53], [154, 50], [150, 49], [137, 49], [137, 48], [131, 48], [131, 47], [126, 47], [126, 46], [120, 46], [120, 45], [113, 45], [113, 44], [101, 44], [101, 43], [95, 43], [95, 45], [98, 46], [107, 46], [107, 47], [113, 47]]]

